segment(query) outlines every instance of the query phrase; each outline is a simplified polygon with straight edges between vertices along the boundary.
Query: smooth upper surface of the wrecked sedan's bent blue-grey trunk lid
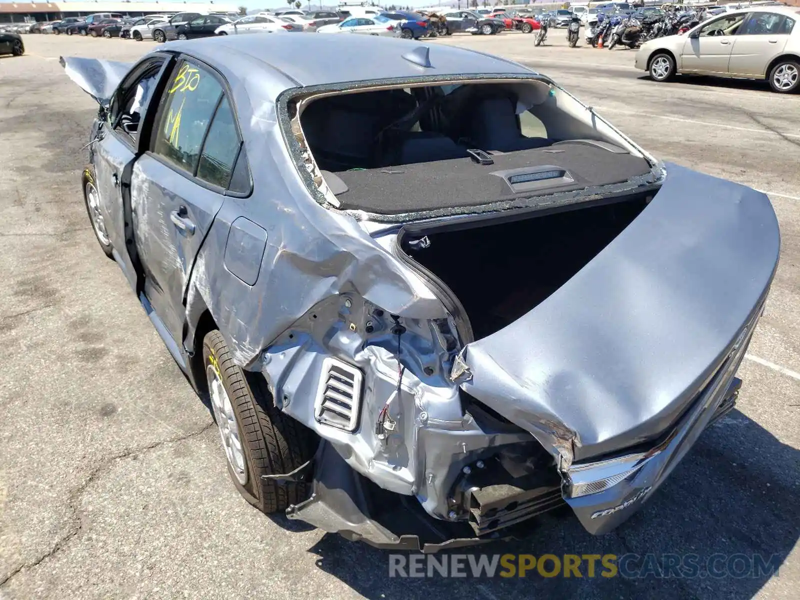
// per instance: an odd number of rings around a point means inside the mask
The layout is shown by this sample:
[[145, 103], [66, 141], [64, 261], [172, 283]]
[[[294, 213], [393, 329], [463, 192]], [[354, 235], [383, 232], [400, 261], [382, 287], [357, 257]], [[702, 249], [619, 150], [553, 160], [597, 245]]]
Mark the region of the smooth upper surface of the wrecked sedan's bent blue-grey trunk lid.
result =
[[462, 389], [562, 464], [645, 442], [722, 361], [779, 249], [765, 194], [668, 165], [653, 201], [578, 274], [466, 346]]

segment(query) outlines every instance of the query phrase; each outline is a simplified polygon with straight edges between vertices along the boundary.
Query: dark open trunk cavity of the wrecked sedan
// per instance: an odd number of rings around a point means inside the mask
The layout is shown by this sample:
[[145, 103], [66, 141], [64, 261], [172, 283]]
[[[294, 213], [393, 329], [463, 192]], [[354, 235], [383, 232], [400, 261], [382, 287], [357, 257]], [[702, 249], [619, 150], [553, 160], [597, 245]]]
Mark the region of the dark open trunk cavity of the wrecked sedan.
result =
[[474, 338], [480, 339], [522, 317], [558, 290], [616, 238], [646, 203], [646, 194], [638, 194], [513, 221], [415, 227], [399, 242], [417, 266], [458, 298]]

